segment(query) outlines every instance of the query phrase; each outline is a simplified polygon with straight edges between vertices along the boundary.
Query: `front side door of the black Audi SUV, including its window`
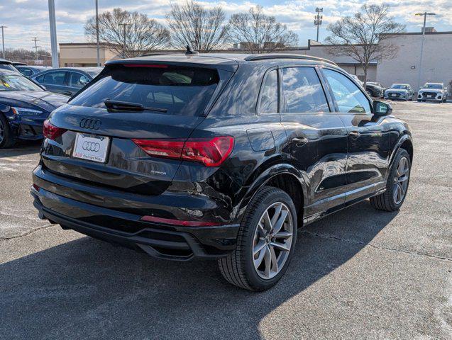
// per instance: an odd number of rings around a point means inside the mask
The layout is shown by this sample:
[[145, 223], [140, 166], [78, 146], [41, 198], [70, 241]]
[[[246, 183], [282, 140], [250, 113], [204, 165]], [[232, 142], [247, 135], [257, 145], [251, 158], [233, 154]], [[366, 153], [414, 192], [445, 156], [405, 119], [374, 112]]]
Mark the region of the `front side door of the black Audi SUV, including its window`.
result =
[[375, 118], [372, 102], [346, 74], [323, 69], [334, 98], [334, 110], [348, 132], [347, 202], [385, 187], [389, 162], [389, 130], [385, 118]]

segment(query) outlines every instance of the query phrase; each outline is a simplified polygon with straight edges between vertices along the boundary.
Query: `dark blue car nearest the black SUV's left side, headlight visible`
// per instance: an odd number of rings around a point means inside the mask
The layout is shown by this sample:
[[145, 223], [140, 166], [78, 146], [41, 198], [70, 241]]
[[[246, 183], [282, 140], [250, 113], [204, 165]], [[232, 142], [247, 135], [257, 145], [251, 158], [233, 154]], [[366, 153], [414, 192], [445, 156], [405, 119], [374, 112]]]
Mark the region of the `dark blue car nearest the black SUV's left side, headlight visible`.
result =
[[0, 148], [43, 138], [43, 123], [69, 97], [52, 94], [18, 72], [0, 69]]

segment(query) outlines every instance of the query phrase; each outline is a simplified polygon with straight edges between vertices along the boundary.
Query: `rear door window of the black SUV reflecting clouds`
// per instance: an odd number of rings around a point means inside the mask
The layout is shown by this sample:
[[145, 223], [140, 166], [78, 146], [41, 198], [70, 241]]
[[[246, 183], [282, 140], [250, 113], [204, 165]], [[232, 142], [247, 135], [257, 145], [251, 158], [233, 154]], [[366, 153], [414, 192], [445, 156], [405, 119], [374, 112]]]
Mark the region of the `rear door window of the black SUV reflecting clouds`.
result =
[[283, 112], [329, 112], [319, 77], [312, 67], [282, 69]]

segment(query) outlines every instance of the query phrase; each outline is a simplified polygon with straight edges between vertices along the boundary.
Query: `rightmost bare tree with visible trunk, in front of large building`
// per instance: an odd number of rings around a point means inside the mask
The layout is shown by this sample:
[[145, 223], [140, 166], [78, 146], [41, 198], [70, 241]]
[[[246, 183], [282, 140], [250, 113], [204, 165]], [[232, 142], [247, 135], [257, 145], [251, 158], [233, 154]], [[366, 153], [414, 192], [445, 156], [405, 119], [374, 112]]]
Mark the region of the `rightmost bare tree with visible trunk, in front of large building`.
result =
[[355, 15], [346, 16], [327, 28], [331, 32], [326, 38], [331, 44], [329, 53], [359, 62], [364, 71], [364, 86], [371, 61], [392, 59], [397, 55], [398, 47], [387, 41], [388, 33], [403, 32], [405, 26], [388, 15], [389, 9], [387, 4], [365, 4]]

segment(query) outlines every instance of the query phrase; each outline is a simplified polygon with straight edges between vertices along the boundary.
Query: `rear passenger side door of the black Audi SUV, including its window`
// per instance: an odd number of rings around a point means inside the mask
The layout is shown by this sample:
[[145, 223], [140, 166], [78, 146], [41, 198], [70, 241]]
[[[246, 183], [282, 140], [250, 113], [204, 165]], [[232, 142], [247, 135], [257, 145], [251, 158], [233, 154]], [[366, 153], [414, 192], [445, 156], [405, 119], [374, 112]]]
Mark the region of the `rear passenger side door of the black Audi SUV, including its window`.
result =
[[293, 164], [308, 184], [308, 220], [341, 205], [346, 185], [347, 132], [329, 108], [315, 67], [282, 67], [282, 108]]

